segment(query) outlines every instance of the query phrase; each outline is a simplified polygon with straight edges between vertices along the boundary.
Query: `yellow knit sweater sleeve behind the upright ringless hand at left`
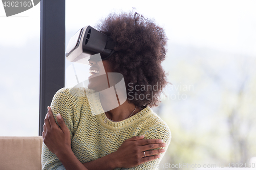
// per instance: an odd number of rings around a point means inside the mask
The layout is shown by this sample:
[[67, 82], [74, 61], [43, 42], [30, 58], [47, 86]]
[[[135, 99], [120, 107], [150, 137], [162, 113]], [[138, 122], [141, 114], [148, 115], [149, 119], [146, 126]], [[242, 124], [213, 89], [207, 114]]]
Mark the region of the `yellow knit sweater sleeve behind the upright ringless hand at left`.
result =
[[[71, 140], [74, 135], [74, 98], [74, 96], [70, 95], [69, 89], [62, 88], [56, 92], [51, 103], [51, 109], [56, 123], [56, 114], [60, 113], [70, 130]], [[41, 165], [42, 170], [57, 169], [62, 165], [57, 156], [47, 148], [44, 142], [42, 143]]]

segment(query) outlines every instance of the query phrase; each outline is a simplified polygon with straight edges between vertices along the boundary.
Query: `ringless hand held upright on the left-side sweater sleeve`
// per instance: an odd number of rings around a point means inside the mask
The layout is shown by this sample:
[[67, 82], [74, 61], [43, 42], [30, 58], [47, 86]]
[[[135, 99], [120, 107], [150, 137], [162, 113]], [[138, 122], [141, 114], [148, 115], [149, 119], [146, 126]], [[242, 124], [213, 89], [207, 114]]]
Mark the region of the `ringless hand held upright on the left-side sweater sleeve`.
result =
[[43, 126], [44, 131], [42, 132], [44, 143], [55, 155], [71, 150], [69, 128], [65, 125], [65, 122], [59, 113], [56, 116], [60, 128], [55, 122], [51, 108], [48, 106], [48, 112]]

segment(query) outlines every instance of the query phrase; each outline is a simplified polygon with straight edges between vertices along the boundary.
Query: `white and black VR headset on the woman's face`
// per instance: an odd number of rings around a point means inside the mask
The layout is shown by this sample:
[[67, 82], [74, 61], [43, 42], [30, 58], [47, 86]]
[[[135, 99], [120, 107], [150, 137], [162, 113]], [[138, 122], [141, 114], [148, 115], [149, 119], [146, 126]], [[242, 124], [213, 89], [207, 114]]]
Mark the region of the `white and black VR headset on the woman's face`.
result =
[[[88, 59], [105, 60], [114, 52], [116, 43], [112, 38], [91, 26], [78, 30], [69, 40], [66, 58], [71, 62], [89, 64]], [[98, 57], [100, 54], [101, 58]]]

